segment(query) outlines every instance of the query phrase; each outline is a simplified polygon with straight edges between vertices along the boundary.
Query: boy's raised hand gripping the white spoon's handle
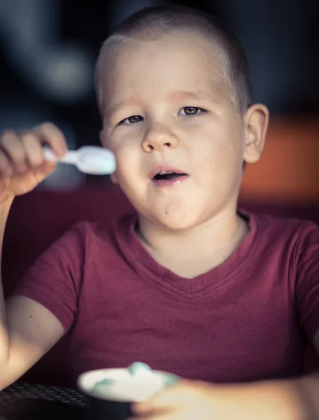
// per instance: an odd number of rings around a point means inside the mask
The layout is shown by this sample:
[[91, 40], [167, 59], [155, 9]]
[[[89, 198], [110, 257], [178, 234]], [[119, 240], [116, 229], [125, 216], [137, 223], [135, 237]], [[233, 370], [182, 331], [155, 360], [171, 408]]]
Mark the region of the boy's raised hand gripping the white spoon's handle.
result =
[[0, 135], [0, 204], [9, 197], [29, 193], [55, 169], [54, 162], [44, 160], [43, 145], [57, 156], [67, 151], [62, 132], [51, 123], [33, 130]]

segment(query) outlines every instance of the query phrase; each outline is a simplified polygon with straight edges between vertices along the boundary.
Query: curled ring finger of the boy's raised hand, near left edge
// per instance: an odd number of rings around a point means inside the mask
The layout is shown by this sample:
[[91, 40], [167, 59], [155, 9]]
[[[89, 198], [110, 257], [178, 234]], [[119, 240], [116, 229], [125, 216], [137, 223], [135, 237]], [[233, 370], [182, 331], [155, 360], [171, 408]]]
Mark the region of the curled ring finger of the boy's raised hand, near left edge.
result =
[[15, 132], [7, 131], [1, 136], [0, 146], [6, 153], [8, 161], [12, 163], [15, 170], [25, 172], [27, 169], [25, 161], [25, 149]]

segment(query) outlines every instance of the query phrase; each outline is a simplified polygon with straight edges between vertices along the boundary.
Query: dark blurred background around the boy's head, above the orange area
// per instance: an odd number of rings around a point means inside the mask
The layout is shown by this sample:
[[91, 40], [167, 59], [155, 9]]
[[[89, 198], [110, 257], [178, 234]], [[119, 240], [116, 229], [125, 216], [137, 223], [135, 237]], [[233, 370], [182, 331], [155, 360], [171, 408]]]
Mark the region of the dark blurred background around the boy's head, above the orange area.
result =
[[[70, 148], [99, 144], [94, 64], [112, 29], [151, 0], [0, 0], [0, 130], [50, 120]], [[250, 62], [254, 99], [273, 119], [319, 115], [318, 0], [167, 1], [202, 8], [242, 41]], [[319, 140], [318, 140], [319, 141]], [[63, 172], [64, 171], [64, 172]], [[59, 169], [47, 188], [86, 181]]]

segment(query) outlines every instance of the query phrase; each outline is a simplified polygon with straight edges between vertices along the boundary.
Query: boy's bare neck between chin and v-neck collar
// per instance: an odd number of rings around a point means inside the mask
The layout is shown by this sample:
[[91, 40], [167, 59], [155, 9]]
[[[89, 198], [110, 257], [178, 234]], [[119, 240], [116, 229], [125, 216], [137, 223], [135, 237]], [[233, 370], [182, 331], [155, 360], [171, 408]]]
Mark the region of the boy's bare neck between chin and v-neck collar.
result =
[[186, 278], [222, 264], [249, 232], [247, 222], [236, 210], [177, 232], [160, 228], [142, 217], [139, 220], [137, 235], [154, 260]]

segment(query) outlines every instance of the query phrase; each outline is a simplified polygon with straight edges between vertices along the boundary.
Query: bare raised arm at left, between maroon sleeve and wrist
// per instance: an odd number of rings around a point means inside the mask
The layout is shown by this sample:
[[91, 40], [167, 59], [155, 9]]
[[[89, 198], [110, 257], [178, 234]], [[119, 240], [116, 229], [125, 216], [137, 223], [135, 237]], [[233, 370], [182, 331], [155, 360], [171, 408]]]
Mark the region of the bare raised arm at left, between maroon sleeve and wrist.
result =
[[[0, 204], [0, 255], [12, 202]], [[0, 389], [24, 374], [63, 334], [60, 321], [38, 302], [19, 295], [5, 302], [0, 281]]]

